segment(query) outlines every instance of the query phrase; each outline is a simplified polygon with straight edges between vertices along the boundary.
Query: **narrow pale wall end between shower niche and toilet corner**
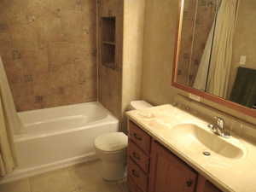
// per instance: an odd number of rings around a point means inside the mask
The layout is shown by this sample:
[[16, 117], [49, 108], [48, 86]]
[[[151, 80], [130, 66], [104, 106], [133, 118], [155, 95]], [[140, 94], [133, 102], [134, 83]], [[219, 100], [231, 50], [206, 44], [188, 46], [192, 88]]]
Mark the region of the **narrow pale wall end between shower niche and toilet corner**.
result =
[[[122, 113], [130, 102], [141, 98], [143, 73], [143, 29], [146, 0], [125, 0], [122, 77]], [[123, 131], [126, 127], [123, 115]]]

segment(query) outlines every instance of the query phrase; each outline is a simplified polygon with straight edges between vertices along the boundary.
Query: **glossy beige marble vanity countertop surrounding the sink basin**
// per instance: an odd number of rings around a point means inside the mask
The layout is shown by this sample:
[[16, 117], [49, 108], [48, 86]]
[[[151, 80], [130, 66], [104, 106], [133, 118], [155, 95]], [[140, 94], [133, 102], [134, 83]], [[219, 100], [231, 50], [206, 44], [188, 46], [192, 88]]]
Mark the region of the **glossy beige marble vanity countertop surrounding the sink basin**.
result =
[[[179, 138], [172, 137], [172, 129], [176, 125], [193, 124], [214, 137], [218, 137], [207, 128], [208, 122], [193, 114], [184, 112], [172, 105], [162, 105], [126, 113], [128, 118], [137, 123], [155, 140], [170, 149], [173, 154], [185, 161], [195, 171], [226, 192], [256, 192], [256, 146], [231, 134], [224, 140], [241, 148], [241, 158], [228, 158], [211, 151], [210, 156], [202, 154], [207, 148], [196, 141], [181, 144]], [[217, 143], [218, 144], [218, 143]], [[220, 148], [221, 150], [221, 148]]]

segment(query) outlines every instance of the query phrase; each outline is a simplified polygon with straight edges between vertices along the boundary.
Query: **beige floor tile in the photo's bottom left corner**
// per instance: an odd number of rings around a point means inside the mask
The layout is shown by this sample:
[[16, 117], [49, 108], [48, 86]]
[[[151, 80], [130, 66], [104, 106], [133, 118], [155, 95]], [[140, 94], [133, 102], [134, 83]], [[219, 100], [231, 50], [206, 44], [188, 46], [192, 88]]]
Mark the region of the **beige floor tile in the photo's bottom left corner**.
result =
[[0, 185], [0, 192], [32, 192], [28, 179]]

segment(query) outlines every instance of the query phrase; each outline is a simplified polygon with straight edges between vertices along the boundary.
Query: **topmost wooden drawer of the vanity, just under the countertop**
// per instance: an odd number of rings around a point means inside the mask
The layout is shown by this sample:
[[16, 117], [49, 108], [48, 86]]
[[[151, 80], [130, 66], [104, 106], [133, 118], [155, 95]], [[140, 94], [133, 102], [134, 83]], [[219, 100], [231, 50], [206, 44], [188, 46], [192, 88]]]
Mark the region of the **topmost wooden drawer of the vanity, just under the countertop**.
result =
[[146, 154], [149, 154], [151, 137], [131, 121], [129, 121], [129, 138]]

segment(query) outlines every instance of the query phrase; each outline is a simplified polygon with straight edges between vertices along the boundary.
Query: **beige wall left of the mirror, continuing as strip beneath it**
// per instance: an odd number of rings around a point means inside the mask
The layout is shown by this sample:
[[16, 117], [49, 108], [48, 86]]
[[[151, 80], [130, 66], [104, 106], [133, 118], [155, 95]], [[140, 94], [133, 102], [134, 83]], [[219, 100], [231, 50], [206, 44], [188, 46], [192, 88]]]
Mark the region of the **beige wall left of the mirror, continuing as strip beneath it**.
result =
[[[148, 0], [146, 4], [142, 97], [154, 104], [172, 103], [181, 90], [171, 86], [177, 33], [178, 0]], [[255, 124], [255, 119], [217, 103], [202, 102]]]

